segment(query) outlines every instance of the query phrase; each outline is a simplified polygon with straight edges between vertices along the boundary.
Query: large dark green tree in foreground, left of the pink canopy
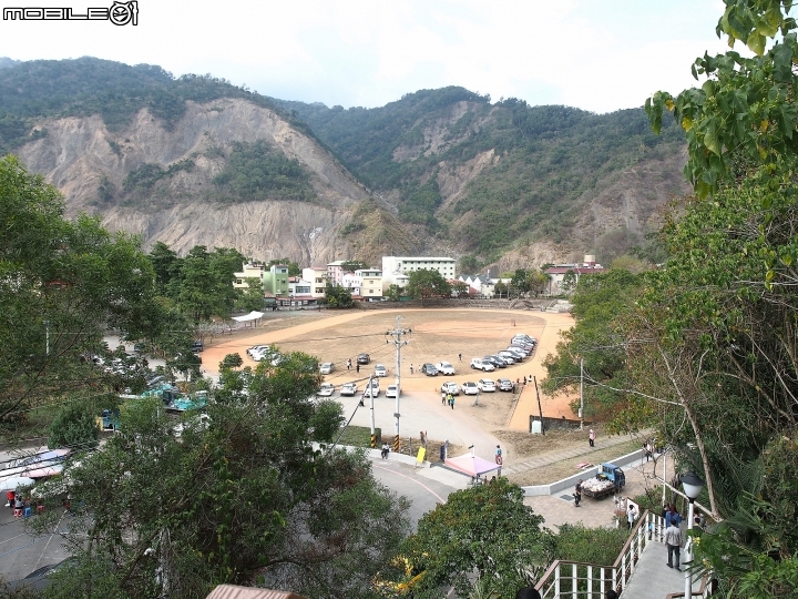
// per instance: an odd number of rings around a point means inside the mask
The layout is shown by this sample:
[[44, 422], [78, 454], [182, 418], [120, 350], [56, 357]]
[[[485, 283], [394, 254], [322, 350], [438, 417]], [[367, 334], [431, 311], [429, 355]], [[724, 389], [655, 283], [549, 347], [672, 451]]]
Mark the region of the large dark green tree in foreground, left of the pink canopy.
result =
[[[82, 505], [62, 531], [76, 565], [58, 587], [178, 599], [259, 580], [307, 597], [372, 597], [408, 531], [407, 505], [362, 454], [327, 448], [344, 418], [340, 405], [311, 399], [316, 359], [287, 354], [279, 367], [228, 373], [249, 375], [247, 393], [208, 404], [208, 418], [186, 415], [178, 439], [160, 399], [141, 399], [71, 468]], [[38, 530], [63, 528], [57, 511]]]

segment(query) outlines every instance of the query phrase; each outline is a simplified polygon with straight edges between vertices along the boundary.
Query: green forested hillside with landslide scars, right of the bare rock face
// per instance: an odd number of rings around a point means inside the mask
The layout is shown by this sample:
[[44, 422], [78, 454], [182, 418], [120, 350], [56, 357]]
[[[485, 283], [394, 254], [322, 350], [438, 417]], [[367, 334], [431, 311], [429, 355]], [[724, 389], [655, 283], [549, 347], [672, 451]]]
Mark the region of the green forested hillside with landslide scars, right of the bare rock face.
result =
[[[585, 204], [636, 165], [658, 163], [664, 193], [684, 191], [674, 160], [684, 134], [668, 123], [654, 135], [642, 109], [596, 115], [516, 99], [491, 104], [462, 88], [423, 90], [370, 110], [275, 102], [307, 121], [361, 181], [392, 197], [403, 221], [457, 240], [479, 261], [519, 240], [521, 245], [574, 241], [584, 229], [574, 230], [585, 221]], [[459, 193], [446, 189], [459, 167], [480, 156], [491, 160], [479, 176]], [[598, 230], [582, 243], [595, 250]], [[622, 233], [613, 243], [636, 243], [644, 231]]]

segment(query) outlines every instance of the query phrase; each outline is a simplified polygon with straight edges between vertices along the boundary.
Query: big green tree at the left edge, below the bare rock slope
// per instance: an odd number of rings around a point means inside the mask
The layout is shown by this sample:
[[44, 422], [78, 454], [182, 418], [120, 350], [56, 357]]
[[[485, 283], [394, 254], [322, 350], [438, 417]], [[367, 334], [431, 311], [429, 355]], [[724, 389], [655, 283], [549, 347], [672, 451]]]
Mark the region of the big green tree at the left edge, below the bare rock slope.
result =
[[137, 339], [165, 326], [140, 240], [65, 220], [54, 187], [0, 159], [0, 426], [32, 405], [108, 389], [85, 359], [106, 327]]

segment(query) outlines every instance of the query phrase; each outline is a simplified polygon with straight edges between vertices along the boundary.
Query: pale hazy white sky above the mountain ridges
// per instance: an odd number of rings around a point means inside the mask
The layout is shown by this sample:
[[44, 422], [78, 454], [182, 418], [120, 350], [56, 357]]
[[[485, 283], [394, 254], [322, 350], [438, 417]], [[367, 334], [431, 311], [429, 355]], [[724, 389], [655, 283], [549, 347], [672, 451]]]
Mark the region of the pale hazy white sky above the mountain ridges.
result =
[[[110, 7], [113, 0], [0, 0]], [[720, 0], [140, 0], [139, 24], [0, 20], [0, 55], [92, 55], [211, 73], [266, 95], [377, 106], [462, 85], [594, 112], [695, 84]]]

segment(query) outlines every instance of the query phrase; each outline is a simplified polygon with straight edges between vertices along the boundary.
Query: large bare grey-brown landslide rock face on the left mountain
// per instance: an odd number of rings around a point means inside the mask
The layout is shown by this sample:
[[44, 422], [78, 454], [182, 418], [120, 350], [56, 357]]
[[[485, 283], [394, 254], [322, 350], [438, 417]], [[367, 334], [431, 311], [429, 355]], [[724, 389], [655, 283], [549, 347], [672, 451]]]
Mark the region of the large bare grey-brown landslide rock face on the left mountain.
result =
[[[50, 120], [41, 126], [48, 135], [20, 151], [28, 167], [62, 191], [69, 214], [99, 214], [111, 230], [141, 234], [145, 246], [162, 241], [181, 253], [197, 244], [232, 246], [254, 257], [287, 256], [304, 264], [356, 254], [374, 260], [382, 251], [362, 242], [351, 247], [339, 234], [368, 191], [314, 139], [245, 100], [188, 102], [186, 114], [171, 130], [146, 110], [119, 133], [109, 132], [100, 116]], [[207, 200], [205, 192], [224, 166], [224, 159], [209, 150], [257, 140], [267, 140], [311, 173], [315, 202], [265, 196], [222, 205]], [[119, 190], [125, 176], [145, 163], [165, 169], [185, 159], [193, 160], [194, 169], [171, 177], [158, 197], [145, 204], [98, 200], [101, 184]]]

